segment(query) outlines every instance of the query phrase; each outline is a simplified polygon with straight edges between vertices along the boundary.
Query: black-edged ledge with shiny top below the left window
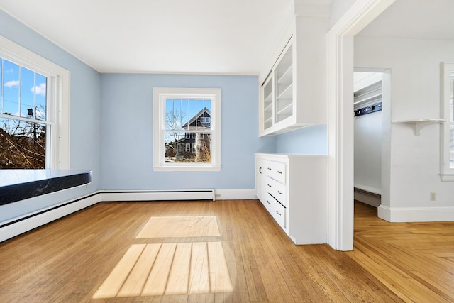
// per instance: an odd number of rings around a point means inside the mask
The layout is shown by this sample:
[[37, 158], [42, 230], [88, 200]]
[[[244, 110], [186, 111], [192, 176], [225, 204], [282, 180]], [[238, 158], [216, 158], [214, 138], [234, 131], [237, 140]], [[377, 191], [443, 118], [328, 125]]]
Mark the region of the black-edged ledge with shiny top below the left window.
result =
[[91, 170], [0, 170], [0, 205], [90, 182]]

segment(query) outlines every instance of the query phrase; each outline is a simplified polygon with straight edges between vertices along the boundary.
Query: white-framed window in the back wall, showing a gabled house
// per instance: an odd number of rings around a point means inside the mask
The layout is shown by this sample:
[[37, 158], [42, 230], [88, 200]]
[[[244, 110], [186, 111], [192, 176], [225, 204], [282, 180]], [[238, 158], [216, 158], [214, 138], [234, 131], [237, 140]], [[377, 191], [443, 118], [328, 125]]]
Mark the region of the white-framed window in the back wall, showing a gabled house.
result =
[[153, 89], [153, 168], [221, 170], [221, 89]]

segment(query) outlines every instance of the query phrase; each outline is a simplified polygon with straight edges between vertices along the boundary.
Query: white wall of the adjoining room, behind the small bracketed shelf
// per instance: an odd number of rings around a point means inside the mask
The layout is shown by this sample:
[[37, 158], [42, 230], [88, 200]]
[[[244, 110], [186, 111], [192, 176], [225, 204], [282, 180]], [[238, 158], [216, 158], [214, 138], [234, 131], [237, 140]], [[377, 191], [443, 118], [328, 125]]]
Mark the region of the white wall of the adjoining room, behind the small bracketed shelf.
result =
[[[392, 121], [440, 118], [444, 61], [454, 61], [454, 41], [355, 38], [355, 67], [391, 70]], [[441, 182], [438, 175], [440, 129], [427, 126], [415, 136], [412, 126], [391, 124], [390, 221], [434, 221], [453, 214], [454, 184]], [[430, 201], [430, 192], [436, 192], [436, 202]]]

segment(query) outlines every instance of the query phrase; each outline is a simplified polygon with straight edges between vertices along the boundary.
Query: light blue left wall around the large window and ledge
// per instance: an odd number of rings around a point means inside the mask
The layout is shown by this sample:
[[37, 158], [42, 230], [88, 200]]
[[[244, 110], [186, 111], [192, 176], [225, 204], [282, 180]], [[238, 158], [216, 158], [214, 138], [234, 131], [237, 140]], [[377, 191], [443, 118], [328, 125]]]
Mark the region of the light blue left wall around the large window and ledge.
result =
[[101, 75], [1, 10], [0, 35], [71, 72], [70, 165], [74, 169], [93, 170], [93, 182], [88, 189], [77, 187], [0, 206], [0, 221], [4, 221], [99, 188]]

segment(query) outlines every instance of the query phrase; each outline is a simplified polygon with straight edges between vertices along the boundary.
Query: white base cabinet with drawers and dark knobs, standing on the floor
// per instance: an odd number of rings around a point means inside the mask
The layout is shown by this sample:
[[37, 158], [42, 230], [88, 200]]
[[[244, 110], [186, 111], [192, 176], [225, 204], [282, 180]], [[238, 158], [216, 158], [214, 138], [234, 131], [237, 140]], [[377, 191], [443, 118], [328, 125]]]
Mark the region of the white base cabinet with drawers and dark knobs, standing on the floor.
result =
[[324, 155], [255, 154], [257, 197], [295, 244], [327, 243]]

